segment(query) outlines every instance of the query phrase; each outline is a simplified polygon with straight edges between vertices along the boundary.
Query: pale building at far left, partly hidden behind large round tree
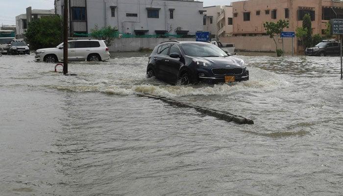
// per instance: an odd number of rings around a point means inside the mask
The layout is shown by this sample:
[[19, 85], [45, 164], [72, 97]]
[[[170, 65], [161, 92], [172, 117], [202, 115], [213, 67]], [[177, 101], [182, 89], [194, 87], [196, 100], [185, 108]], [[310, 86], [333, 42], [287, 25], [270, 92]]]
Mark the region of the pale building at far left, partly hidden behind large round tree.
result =
[[17, 38], [23, 38], [27, 29], [27, 24], [34, 19], [40, 19], [44, 16], [55, 15], [55, 9], [31, 9], [26, 8], [26, 13], [16, 16], [16, 33]]

